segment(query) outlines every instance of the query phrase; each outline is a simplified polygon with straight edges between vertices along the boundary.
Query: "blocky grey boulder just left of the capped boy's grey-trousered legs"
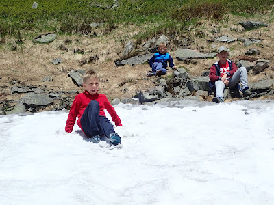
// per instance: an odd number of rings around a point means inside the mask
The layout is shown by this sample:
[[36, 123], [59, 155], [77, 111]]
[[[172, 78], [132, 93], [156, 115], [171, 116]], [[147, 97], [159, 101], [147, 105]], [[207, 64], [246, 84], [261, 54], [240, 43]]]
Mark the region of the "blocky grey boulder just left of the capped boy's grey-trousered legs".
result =
[[209, 81], [210, 81], [209, 77], [195, 77], [191, 79], [190, 81], [186, 82], [186, 87], [188, 87], [191, 93], [193, 91], [198, 91], [198, 90], [208, 91], [210, 90], [209, 83], [208, 83]]

